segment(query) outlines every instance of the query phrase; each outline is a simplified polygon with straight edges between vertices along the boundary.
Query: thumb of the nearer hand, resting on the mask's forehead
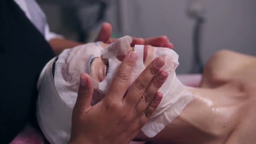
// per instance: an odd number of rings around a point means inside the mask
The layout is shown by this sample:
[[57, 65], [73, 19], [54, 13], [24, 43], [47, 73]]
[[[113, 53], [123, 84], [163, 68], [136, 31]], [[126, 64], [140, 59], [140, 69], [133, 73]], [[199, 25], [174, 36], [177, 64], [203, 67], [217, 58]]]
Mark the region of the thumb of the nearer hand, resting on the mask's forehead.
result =
[[76, 111], [88, 111], [91, 107], [93, 94], [93, 82], [90, 76], [86, 73], [80, 75], [80, 85], [78, 89], [77, 99], [74, 109]]

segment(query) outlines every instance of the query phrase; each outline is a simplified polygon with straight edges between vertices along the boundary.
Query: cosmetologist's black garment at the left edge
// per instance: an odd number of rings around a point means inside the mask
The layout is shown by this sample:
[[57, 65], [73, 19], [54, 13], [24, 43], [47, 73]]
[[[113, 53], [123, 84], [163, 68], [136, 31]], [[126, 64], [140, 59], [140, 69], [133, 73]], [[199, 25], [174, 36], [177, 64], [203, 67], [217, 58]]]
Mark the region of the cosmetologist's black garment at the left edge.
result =
[[53, 51], [13, 0], [0, 0], [0, 141], [36, 124], [36, 83]]

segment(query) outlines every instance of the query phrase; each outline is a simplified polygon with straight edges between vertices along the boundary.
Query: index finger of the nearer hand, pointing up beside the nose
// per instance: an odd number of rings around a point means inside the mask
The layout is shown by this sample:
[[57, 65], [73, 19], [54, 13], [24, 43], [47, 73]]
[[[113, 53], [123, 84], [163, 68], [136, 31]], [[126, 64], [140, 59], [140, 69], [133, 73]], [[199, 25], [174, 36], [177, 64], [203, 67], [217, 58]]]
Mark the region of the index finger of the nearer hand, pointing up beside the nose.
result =
[[123, 59], [118, 72], [111, 84], [108, 95], [105, 98], [111, 98], [112, 100], [121, 101], [130, 82], [130, 75], [138, 56], [136, 52], [131, 51]]

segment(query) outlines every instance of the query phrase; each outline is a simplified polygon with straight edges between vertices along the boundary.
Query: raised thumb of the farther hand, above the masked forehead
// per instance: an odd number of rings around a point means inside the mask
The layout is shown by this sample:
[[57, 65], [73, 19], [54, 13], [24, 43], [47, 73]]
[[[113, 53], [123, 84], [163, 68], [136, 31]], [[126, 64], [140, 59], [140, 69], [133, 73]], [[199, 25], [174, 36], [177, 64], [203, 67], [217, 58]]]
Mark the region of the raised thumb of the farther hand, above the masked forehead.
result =
[[112, 34], [112, 26], [110, 23], [102, 23], [102, 27], [98, 33], [97, 38], [95, 39], [95, 42], [102, 41], [104, 43], [108, 42], [108, 39], [110, 39]]

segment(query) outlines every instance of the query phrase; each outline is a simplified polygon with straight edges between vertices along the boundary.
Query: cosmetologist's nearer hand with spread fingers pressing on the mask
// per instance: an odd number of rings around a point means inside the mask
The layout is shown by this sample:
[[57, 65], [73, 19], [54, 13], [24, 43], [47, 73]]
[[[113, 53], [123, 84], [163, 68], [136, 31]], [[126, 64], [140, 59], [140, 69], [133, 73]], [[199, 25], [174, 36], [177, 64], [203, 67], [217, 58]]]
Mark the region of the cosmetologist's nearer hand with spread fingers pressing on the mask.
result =
[[80, 75], [69, 144], [128, 144], [138, 134], [158, 107], [162, 99], [158, 89], [168, 74], [161, 69], [164, 59], [158, 57], [127, 91], [130, 74], [137, 59], [135, 52], [129, 52], [125, 56], [108, 94], [94, 106], [90, 105], [92, 79], [88, 74]]

